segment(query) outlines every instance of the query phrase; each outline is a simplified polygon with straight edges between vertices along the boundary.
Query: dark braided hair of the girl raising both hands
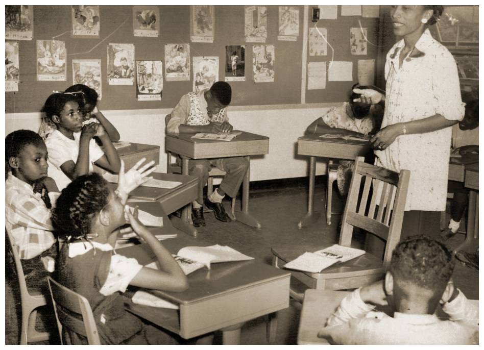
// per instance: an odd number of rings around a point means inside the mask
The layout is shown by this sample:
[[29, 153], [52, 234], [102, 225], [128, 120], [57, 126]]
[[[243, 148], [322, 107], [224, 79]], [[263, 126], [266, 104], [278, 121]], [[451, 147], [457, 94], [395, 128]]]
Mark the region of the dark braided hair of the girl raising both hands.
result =
[[61, 238], [85, 237], [92, 219], [108, 204], [109, 187], [99, 174], [82, 175], [64, 188], [52, 214]]

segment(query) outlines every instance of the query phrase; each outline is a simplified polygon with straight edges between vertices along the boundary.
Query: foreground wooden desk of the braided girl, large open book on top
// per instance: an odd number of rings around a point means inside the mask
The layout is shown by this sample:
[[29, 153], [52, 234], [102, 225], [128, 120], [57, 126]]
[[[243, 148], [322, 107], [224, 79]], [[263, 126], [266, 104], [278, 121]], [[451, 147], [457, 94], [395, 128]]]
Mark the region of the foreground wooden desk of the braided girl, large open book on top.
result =
[[[208, 242], [182, 235], [162, 241], [172, 254], [185, 246], [207, 246]], [[117, 250], [146, 265], [155, 261], [147, 244]], [[133, 303], [126, 309], [185, 339], [221, 330], [224, 344], [240, 343], [240, 328], [245, 321], [289, 306], [291, 273], [256, 260], [215, 263], [190, 273], [184, 292], [150, 291], [178, 304], [169, 310]]]

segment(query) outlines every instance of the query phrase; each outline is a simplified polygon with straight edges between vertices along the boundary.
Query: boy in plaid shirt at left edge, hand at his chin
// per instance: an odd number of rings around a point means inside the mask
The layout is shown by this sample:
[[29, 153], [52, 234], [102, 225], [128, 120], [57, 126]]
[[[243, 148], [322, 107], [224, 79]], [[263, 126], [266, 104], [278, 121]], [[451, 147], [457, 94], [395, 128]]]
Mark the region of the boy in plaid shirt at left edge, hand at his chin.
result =
[[59, 189], [47, 177], [47, 148], [35, 132], [17, 130], [8, 134], [5, 160], [5, 227], [19, 248], [27, 285], [41, 286], [47, 269], [53, 271], [57, 255], [51, 209]]

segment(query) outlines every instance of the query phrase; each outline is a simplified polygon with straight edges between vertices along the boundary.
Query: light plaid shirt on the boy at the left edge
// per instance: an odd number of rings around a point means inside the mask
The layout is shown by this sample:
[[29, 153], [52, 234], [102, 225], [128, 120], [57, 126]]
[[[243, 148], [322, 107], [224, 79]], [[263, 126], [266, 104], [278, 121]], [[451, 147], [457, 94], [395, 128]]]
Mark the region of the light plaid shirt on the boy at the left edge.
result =
[[[53, 207], [58, 197], [59, 193], [49, 193]], [[19, 247], [20, 259], [32, 259], [56, 241], [51, 232], [51, 211], [40, 193], [12, 173], [5, 182], [5, 226]]]

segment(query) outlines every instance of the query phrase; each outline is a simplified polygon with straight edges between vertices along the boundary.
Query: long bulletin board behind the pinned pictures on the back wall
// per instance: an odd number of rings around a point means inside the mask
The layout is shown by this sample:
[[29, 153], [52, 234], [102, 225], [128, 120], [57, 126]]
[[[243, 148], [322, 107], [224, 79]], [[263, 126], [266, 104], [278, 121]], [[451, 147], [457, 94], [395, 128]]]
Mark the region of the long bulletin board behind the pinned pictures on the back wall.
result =
[[[317, 6], [314, 6], [317, 7]], [[136, 82], [133, 85], [109, 85], [107, 82], [108, 43], [133, 43], [135, 60], [163, 60], [167, 43], [189, 43], [190, 57], [218, 56], [219, 80], [225, 78], [225, 46], [245, 45], [245, 82], [230, 82], [231, 106], [300, 104], [301, 65], [303, 53], [303, 6], [299, 8], [299, 36], [296, 41], [278, 40], [278, 6], [267, 6], [268, 30], [265, 44], [275, 47], [274, 82], [254, 83], [252, 71], [252, 46], [246, 42], [244, 33], [244, 6], [214, 7], [213, 43], [190, 41], [190, 6], [160, 6], [160, 33], [158, 37], [135, 37], [133, 35], [132, 6], [100, 6], [100, 34], [96, 38], [71, 35], [70, 6], [34, 6], [33, 40], [18, 40], [20, 78], [17, 92], [6, 92], [6, 113], [38, 112], [53, 90], [63, 91], [72, 85], [72, 60], [100, 59], [102, 70], [102, 101], [104, 110], [173, 108], [180, 97], [192, 91], [192, 72], [189, 81], [163, 81], [161, 101], [137, 101]], [[309, 27], [314, 26], [309, 6]], [[376, 59], [377, 47], [368, 45], [366, 56], [353, 56], [350, 52], [350, 27], [368, 28], [368, 39], [377, 43], [378, 18], [361, 16], [320, 20], [318, 27], [328, 29], [328, 41], [334, 48], [335, 61], [353, 61], [353, 81], [357, 77], [358, 59]], [[44, 82], [36, 79], [36, 40], [65, 41], [67, 52], [66, 81]], [[307, 54], [307, 52], [305, 53]], [[327, 56], [307, 57], [308, 62], [326, 61]], [[191, 60], [190, 60], [191, 61]], [[164, 62], [163, 62], [164, 64]], [[191, 63], [190, 63], [191, 64]], [[191, 67], [192, 68], [192, 67]], [[163, 66], [164, 77], [164, 66]], [[164, 77], [165, 78], [165, 77]], [[326, 88], [307, 90], [306, 103], [346, 101], [352, 82], [326, 82]]]

